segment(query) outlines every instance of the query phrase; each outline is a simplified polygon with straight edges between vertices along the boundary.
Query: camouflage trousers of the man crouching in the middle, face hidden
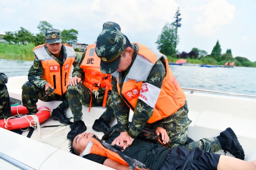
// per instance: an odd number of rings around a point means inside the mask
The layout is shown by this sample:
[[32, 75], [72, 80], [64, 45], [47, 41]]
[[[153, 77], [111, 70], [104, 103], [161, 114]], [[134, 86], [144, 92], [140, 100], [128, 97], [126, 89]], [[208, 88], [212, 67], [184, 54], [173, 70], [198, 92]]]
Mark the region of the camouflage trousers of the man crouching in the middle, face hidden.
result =
[[[68, 99], [70, 110], [74, 116], [74, 121], [82, 120], [82, 105], [102, 106], [105, 95], [105, 88], [99, 88], [98, 91], [93, 90], [92, 95], [89, 88], [83, 86], [82, 83], [78, 83], [76, 86], [68, 86]], [[108, 97], [106, 101], [106, 110], [102, 113], [101, 117], [108, 123], [115, 117], [113, 102], [111, 99], [111, 91], [108, 91]]]

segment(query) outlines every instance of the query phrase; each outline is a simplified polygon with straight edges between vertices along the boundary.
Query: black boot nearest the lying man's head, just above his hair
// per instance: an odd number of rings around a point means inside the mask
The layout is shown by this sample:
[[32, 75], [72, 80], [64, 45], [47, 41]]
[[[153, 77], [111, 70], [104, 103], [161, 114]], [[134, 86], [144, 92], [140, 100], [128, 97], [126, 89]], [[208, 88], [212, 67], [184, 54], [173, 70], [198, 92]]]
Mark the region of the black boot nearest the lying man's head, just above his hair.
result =
[[76, 137], [76, 135], [87, 130], [87, 127], [85, 126], [85, 124], [82, 120], [74, 122], [72, 124], [72, 126], [70, 126], [70, 128], [71, 128], [71, 130], [67, 134], [68, 139], [74, 139], [74, 137]]

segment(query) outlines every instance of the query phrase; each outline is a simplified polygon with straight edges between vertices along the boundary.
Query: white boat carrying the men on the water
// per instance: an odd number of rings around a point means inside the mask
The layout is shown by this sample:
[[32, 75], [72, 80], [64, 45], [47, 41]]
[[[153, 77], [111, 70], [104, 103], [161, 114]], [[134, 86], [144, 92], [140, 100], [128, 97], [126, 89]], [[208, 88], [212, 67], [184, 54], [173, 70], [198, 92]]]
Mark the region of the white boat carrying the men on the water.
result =
[[[10, 97], [21, 100], [22, 85], [27, 81], [26, 76], [11, 77], [7, 88]], [[223, 94], [221, 92], [210, 93], [203, 90], [189, 90], [184, 88], [189, 108], [189, 137], [199, 140], [204, 137], [214, 137], [228, 127], [231, 127], [237, 135], [245, 152], [245, 160], [256, 159], [256, 96], [239, 94]], [[37, 105], [43, 105], [53, 110], [59, 101], [38, 101]], [[104, 112], [103, 107], [89, 108], [83, 106], [83, 121], [87, 126], [87, 132], [94, 132], [99, 138], [102, 132], [92, 129], [95, 119]], [[67, 117], [72, 117], [70, 109], [65, 110]], [[130, 111], [130, 114], [133, 114]], [[131, 120], [132, 116], [130, 116]], [[71, 120], [72, 121], [72, 120]], [[116, 120], [111, 125], [116, 124]], [[47, 119], [35, 128], [30, 138], [26, 137], [28, 131], [19, 135], [4, 128], [0, 128], [0, 169], [111, 169], [94, 163], [82, 157], [69, 153], [67, 133], [69, 126], [46, 127], [61, 125], [59, 121]], [[218, 154], [224, 154], [221, 150]], [[227, 153], [227, 155], [230, 155]], [[232, 156], [232, 155], [230, 155]], [[19, 168], [17, 168], [19, 167]]]

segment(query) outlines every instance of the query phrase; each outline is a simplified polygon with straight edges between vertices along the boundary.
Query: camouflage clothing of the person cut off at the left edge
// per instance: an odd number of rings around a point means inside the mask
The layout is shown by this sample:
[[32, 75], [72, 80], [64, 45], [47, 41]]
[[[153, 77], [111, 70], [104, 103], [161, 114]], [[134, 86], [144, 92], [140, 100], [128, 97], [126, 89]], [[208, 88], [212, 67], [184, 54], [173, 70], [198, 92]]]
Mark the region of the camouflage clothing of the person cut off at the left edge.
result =
[[8, 77], [0, 73], [0, 119], [11, 117], [11, 103], [6, 83]]

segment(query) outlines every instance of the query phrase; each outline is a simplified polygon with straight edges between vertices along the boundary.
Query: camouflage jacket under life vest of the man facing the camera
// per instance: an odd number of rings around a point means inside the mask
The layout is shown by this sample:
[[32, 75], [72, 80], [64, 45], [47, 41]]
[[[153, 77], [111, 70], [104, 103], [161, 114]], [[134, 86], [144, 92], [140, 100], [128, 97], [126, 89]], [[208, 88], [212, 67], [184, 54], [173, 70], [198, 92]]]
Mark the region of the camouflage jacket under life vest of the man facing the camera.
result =
[[[64, 45], [62, 44], [61, 47], [61, 52], [60, 52], [60, 57], [59, 59], [57, 57], [55, 57], [45, 46], [45, 50], [47, 51], [47, 53], [54, 58], [54, 60], [56, 60], [60, 66], [63, 66], [63, 63], [65, 62], [65, 59], [67, 58], [67, 51], [64, 47]], [[73, 62], [73, 66], [75, 67], [78, 62], [80, 61], [80, 59], [78, 57], [75, 58], [74, 62]], [[32, 82], [33, 84], [35, 84], [38, 88], [45, 90], [45, 84], [48, 83], [45, 79], [42, 78], [43, 76], [43, 66], [40, 60], [38, 60], [37, 56], [35, 56], [35, 60], [33, 63], [33, 66], [31, 66], [31, 68], [28, 71], [28, 80], [30, 82]]]

